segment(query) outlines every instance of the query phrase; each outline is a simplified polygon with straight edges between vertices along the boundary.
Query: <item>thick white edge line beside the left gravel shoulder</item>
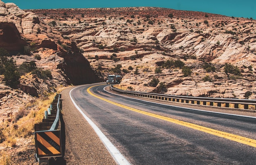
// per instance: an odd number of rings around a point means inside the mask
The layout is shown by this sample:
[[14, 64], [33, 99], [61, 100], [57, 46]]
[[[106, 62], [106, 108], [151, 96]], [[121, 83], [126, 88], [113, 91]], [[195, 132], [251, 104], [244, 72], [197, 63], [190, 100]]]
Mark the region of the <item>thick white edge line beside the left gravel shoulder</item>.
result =
[[[85, 85], [82, 85], [85, 86]], [[81, 87], [81, 86], [79, 86]], [[78, 87], [75, 87], [78, 88]], [[73, 88], [73, 89], [75, 89]], [[70, 90], [70, 98], [74, 104], [74, 106], [76, 107], [76, 109], [79, 110], [79, 112], [83, 115], [83, 117], [85, 118], [85, 120], [87, 120], [87, 122], [92, 126], [92, 128], [94, 129], [94, 131], [97, 133], [97, 135], [99, 136], [99, 138], [101, 139], [101, 141], [103, 142], [103, 144], [105, 145], [105, 147], [108, 149], [108, 152], [110, 152], [111, 156], [115, 159], [116, 163], [119, 165], [130, 165], [130, 163], [127, 161], [127, 159], [121, 154], [121, 152], [119, 152], [119, 150], [110, 142], [110, 140], [108, 140], [108, 138], [103, 134], [103, 132], [101, 132], [101, 130], [99, 129], [99, 127], [97, 127], [97, 125], [95, 125], [93, 123], [93, 121], [88, 118], [88, 116], [86, 116], [83, 111], [78, 107], [78, 105], [76, 105], [76, 103], [74, 102], [73, 98], [71, 97], [71, 91]]]

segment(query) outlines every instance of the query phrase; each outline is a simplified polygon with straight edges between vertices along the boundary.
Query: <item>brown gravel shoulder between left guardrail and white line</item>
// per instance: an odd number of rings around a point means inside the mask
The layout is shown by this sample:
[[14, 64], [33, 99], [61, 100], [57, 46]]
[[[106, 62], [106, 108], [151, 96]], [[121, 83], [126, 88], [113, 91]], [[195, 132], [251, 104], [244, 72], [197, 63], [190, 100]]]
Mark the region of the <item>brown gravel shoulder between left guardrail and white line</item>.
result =
[[69, 92], [73, 88], [61, 92], [66, 164], [116, 164], [96, 132], [72, 103]]

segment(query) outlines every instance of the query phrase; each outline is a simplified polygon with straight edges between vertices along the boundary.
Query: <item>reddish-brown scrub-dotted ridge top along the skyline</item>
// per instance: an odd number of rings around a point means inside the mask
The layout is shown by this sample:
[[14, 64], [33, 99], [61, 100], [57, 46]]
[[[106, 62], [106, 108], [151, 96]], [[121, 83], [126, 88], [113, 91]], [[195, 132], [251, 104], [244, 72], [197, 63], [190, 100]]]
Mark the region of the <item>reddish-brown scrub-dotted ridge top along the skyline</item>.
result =
[[[139, 15], [139, 16], [168, 16], [172, 13], [175, 18], [204, 18], [207, 14], [209, 19], [229, 19], [229, 16], [220, 14], [205, 13], [200, 11], [183, 11], [161, 7], [121, 7], [121, 8], [90, 8], [90, 9], [32, 9], [25, 10], [32, 11], [38, 15], [48, 13], [49, 15], [60, 15], [65, 13], [78, 14], [83, 13], [88, 17], [92, 16], [124, 16], [124, 15]], [[69, 15], [70, 16], [70, 15]], [[242, 18], [240, 18], [242, 19]], [[247, 20], [247, 18], [243, 18]]]

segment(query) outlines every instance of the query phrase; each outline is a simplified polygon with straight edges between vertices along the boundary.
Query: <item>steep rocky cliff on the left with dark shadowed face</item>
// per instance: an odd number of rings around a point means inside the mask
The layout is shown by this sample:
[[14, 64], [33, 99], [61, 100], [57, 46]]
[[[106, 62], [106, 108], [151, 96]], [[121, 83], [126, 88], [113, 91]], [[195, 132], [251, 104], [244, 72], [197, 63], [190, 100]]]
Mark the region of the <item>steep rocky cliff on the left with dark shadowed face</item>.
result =
[[[0, 76], [0, 120], [10, 118], [29, 101], [56, 92], [59, 87], [102, 81], [74, 41], [64, 39], [35, 13], [2, 1], [0, 49], [1, 56], [3, 49], [8, 51], [8, 58], [13, 58], [20, 72], [14, 89]], [[29, 65], [33, 66], [32, 72], [25, 71]]]

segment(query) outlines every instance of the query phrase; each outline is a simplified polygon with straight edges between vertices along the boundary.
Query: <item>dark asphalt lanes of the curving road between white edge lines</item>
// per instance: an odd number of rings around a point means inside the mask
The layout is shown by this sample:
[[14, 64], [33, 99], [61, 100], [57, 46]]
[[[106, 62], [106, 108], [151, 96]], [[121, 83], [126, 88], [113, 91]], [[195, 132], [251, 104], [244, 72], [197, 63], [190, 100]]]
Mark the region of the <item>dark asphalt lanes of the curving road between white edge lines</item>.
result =
[[[90, 91], [117, 104], [151, 114], [256, 139], [256, 118], [158, 105]], [[76, 87], [71, 96], [131, 164], [255, 164], [256, 147], [113, 105]]]

